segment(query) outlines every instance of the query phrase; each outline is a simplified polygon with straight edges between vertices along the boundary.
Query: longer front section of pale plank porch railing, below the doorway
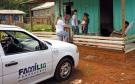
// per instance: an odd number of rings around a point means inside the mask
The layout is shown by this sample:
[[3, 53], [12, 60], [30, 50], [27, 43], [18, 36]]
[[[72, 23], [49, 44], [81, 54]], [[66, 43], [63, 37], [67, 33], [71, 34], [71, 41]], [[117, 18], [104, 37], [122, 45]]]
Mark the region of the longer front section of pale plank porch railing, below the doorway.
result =
[[75, 35], [74, 43], [78, 45], [96, 46], [115, 50], [124, 50], [124, 38]]

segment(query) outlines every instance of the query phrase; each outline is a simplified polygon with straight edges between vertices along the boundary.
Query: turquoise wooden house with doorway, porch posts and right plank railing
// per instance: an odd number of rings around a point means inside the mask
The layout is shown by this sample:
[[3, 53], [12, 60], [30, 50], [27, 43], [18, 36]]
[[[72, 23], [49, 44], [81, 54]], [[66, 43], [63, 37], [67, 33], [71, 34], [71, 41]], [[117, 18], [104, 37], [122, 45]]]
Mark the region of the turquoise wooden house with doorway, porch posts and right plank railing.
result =
[[[82, 21], [83, 14], [89, 14], [89, 34], [74, 35], [75, 44], [121, 50], [123, 61], [127, 57], [125, 53], [135, 50], [135, 0], [29, 0], [26, 3], [30, 9], [32, 4], [44, 2], [55, 2], [55, 16], [71, 15], [76, 9], [78, 20]], [[125, 21], [130, 23], [127, 35], [124, 35]], [[110, 37], [113, 31], [121, 29], [120, 37]]]

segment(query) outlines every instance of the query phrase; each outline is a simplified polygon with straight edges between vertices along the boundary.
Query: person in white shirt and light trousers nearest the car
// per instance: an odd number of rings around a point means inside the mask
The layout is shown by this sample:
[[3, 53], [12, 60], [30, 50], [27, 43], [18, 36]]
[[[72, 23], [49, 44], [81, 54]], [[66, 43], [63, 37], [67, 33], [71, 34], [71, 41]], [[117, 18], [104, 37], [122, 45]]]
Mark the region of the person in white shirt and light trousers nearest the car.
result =
[[69, 34], [64, 31], [64, 27], [68, 27], [62, 20], [61, 15], [57, 17], [55, 22], [57, 39], [60, 41], [68, 42]]

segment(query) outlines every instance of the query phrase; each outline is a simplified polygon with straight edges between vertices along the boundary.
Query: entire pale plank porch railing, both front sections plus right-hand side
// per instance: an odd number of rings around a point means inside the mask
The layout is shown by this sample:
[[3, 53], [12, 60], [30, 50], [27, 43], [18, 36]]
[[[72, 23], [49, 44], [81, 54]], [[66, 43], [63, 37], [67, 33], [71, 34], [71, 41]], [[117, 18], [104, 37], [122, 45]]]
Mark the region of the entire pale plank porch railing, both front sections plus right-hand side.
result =
[[[33, 34], [43, 39], [56, 40], [55, 32], [33, 32]], [[122, 50], [125, 53], [135, 50], [135, 35], [127, 36], [125, 38], [74, 35], [73, 42], [77, 45]]]

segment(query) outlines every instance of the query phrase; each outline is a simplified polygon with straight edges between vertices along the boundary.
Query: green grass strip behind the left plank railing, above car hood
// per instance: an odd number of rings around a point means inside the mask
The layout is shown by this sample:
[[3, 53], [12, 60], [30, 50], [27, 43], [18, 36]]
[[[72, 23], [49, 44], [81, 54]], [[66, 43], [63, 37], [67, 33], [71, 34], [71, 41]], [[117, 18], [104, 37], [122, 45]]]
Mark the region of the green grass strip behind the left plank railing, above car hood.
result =
[[[31, 31], [30, 24], [25, 24], [24, 28], [28, 31]], [[52, 32], [52, 26], [46, 24], [34, 24], [32, 31]]]

